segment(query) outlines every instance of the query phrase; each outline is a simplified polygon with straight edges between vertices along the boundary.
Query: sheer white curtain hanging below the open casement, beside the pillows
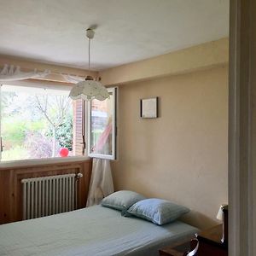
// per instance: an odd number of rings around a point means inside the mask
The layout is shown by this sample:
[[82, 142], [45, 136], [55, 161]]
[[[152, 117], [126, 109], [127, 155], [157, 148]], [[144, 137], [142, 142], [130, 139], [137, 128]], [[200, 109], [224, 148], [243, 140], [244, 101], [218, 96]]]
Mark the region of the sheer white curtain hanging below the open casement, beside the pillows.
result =
[[113, 177], [110, 160], [94, 158], [86, 206], [99, 204], [103, 197], [111, 193], [113, 193]]

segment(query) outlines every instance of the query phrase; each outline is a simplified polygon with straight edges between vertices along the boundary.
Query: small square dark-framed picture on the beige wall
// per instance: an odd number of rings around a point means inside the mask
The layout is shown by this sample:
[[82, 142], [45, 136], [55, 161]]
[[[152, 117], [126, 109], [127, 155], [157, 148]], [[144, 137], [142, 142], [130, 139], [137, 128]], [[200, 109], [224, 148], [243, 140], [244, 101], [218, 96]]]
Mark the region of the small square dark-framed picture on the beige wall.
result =
[[158, 118], [158, 97], [141, 100], [141, 118], [143, 119]]

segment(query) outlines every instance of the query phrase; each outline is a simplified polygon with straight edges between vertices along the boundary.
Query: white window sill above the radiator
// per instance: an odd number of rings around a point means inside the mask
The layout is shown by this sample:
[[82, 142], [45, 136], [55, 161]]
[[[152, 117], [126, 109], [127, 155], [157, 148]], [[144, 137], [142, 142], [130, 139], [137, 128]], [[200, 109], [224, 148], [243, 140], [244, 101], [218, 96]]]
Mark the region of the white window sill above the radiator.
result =
[[0, 162], [0, 169], [22, 167], [22, 166], [43, 166], [48, 164], [68, 163], [76, 161], [90, 160], [88, 156], [70, 156], [70, 157], [55, 157], [49, 159], [31, 159], [31, 160], [13, 160]]

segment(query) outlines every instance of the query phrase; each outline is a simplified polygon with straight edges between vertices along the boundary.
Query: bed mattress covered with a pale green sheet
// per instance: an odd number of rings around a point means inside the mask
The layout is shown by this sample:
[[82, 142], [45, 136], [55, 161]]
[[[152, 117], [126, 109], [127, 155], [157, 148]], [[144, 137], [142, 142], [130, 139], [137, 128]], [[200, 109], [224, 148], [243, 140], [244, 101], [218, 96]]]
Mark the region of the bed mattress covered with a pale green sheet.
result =
[[0, 225], [0, 255], [158, 255], [160, 247], [197, 231], [179, 221], [158, 226], [95, 206]]

